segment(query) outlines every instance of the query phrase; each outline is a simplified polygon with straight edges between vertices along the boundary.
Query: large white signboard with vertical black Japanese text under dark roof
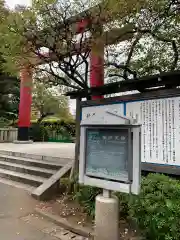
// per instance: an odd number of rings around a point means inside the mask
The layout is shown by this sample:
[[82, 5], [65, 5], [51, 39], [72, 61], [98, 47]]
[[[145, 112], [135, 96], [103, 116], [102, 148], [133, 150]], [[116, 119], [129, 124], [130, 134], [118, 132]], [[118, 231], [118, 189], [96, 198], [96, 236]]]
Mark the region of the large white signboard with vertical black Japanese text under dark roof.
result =
[[142, 162], [180, 165], [180, 97], [84, 107], [82, 119], [106, 109], [138, 115]]

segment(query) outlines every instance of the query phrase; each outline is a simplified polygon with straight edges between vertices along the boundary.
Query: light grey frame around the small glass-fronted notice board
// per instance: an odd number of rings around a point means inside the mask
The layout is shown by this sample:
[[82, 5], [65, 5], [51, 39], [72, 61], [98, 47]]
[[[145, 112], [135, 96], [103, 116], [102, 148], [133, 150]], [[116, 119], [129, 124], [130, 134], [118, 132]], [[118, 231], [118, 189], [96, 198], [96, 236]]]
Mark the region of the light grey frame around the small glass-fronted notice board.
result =
[[[86, 149], [86, 129], [88, 127], [99, 126], [99, 127], [114, 127], [121, 129], [130, 129], [130, 135], [133, 135], [133, 139], [130, 136], [130, 140], [132, 139], [132, 180], [129, 182], [120, 182], [120, 181], [112, 181], [99, 179], [95, 177], [90, 177], [85, 174], [85, 149]], [[96, 186], [103, 189], [108, 189], [112, 191], [120, 191], [125, 193], [134, 193], [139, 194], [140, 191], [140, 179], [141, 179], [141, 151], [140, 151], [140, 125], [81, 125], [81, 136], [80, 136], [80, 161], [79, 161], [79, 183], [89, 186]], [[137, 151], [137, 149], [139, 151]], [[83, 150], [83, 151], [82, 151]]]

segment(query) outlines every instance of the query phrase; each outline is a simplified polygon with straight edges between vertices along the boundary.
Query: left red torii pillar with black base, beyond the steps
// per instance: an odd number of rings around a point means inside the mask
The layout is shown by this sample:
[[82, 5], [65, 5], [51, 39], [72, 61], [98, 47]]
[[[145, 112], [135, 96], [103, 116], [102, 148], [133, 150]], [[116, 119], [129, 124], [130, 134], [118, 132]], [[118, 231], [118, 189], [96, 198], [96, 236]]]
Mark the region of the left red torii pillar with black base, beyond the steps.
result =
[[18, 141], [29, 141], [33, 84], [32, 68], [24, 67], [20, 70], [20, 81]]

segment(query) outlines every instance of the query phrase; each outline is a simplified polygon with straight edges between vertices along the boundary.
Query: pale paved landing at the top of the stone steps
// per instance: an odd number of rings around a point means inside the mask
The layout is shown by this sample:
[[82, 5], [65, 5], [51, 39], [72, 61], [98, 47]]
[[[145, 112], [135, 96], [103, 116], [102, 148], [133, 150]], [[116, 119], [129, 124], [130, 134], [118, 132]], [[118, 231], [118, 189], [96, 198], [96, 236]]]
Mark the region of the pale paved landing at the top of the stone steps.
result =
[[74, 143], [0, 143], [0, 150], [37, 154], [52, 157], [74, 158]]

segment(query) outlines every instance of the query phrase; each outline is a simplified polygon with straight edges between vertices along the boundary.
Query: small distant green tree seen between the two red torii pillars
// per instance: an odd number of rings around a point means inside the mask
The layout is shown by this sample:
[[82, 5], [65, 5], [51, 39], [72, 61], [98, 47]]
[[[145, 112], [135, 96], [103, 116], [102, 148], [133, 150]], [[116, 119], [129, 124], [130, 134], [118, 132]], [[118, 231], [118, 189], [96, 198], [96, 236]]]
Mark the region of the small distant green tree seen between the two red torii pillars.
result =
[[60, 95], [52, 88], [48, 88], [44, 83], [35, 83], [32, 107], [40, 114], [39, 123], [50, 115], [63, 119], [71, 118], [67, 97]]

